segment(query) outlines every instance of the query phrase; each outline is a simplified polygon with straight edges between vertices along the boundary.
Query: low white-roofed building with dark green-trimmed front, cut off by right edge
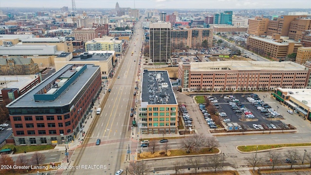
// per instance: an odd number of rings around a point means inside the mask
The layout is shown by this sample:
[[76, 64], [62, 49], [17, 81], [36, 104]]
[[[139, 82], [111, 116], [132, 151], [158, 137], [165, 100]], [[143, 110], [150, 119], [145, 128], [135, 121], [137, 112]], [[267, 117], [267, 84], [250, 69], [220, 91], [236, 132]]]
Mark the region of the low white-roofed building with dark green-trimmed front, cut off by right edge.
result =
[[311, 121], [311, 89], [275, 88], [273, 97], [299, 116]]

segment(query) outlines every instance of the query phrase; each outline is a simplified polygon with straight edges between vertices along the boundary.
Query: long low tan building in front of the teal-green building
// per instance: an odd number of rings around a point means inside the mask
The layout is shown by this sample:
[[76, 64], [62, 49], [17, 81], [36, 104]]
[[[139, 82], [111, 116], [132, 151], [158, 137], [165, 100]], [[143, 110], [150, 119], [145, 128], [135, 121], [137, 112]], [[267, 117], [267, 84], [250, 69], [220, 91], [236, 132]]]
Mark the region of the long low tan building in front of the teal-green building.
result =
[[247, 33], [246, 26], [211, 25], [214, 34], [220, 35], [244, 35]]

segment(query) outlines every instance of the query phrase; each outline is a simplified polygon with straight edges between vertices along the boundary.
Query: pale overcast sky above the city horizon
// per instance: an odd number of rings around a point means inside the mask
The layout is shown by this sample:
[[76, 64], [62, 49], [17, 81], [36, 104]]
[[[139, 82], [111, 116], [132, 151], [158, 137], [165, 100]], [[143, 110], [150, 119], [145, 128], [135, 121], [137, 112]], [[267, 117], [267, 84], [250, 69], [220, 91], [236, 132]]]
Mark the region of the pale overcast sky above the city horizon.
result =
[[[310, 0], [75, 0], [76, 8], [259, 9], [311, 8]], [[0, 0], [4, 7], [71, 8], [71, 0]]]

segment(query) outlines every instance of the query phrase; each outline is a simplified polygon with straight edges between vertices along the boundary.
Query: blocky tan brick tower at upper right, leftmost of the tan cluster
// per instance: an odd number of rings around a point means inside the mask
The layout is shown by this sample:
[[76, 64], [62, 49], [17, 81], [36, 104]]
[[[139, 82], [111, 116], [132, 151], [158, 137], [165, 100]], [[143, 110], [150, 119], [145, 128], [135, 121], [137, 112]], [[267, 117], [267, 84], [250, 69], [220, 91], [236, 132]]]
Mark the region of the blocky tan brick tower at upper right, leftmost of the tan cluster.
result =
[[267, 35], [269, 18], [256, 17], [255, 19], [248, 19], [248, 31], [250, 35]]

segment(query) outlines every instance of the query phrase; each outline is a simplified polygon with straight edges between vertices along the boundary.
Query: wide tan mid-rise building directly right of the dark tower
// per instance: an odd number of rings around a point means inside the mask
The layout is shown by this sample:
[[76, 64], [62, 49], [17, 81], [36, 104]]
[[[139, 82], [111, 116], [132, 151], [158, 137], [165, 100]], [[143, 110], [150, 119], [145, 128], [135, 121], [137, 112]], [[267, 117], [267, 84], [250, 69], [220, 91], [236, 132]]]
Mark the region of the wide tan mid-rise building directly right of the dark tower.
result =
[[173, 49], [200, 48], [207, 40], [208, 47], [212, 46], [213, 30], [211, 28], [191, 28], [171, 31], [171, 46]]

